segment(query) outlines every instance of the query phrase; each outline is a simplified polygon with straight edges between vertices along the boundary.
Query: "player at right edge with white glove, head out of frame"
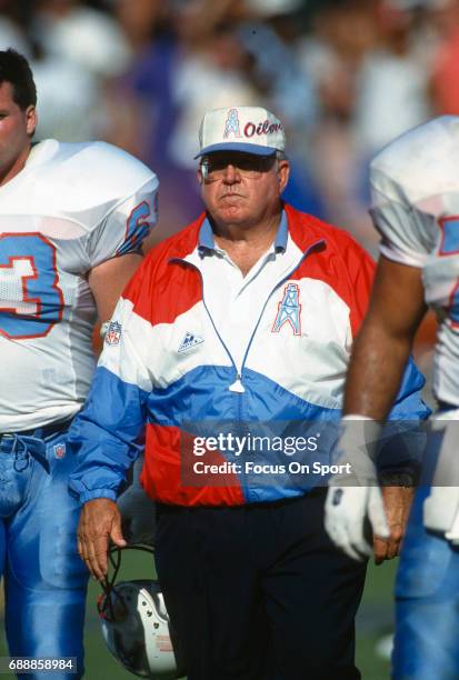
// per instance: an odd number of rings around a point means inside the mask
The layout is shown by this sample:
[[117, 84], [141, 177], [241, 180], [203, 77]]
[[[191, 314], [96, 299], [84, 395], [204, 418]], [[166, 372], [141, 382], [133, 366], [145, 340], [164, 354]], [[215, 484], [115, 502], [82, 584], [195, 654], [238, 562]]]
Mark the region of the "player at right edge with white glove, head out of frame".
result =
[[[371, 213], [382, 237], [381, 258], [348, 374], [345, 454], [352, 456], [348, 436], [348, 429], [355, 428], [352, 419], [386, 418], [427, 306], [439, 320], [433, 366], [439, 408], [430, 424], [423, 477], [397, 579], [396, 680], [459, 678], [458, 164], [459, 118], [449, 116], [407, 132], [371, 164]], [[367, 424], [371, 430], [372, 423]], [[371, 521], [378, 506], [377, 486], [329, 490], [326, 524], [349, 554], [368, 552], [363, 520], [368, 513]], [[396, 533], [400, 527], [392, 526], [385, 539], [393, 553]]]

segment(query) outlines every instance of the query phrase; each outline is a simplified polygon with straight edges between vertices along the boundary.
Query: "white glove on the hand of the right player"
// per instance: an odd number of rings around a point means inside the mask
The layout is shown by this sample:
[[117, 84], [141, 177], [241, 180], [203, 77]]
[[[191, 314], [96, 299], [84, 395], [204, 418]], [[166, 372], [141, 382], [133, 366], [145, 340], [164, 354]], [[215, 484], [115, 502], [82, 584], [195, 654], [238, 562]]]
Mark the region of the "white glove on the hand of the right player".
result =
[[339, 464], [350, 463], [350, 474], [329, 481], [325, 508], [326, 531], [333, 543], [355, 560], [371, 553], [365, 526], [368, 518], [373, 534], [389, 538], [381, 490], [372, 462], [380, 426], [370, 418], [346, 416], [338, 442]]

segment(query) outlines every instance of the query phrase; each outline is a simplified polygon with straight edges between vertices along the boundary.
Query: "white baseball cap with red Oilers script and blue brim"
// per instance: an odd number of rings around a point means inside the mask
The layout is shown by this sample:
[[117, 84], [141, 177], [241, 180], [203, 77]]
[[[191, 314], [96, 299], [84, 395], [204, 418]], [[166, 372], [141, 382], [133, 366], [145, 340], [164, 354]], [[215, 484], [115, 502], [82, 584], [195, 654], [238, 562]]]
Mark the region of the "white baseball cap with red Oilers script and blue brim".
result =
[[228, 107], [208, 111], [199, 129], [200, 151], [194, 158], [216, 151], [242, 151], [271, 156], [283, 151], [286, 136], [278, 118], [261, 107]]

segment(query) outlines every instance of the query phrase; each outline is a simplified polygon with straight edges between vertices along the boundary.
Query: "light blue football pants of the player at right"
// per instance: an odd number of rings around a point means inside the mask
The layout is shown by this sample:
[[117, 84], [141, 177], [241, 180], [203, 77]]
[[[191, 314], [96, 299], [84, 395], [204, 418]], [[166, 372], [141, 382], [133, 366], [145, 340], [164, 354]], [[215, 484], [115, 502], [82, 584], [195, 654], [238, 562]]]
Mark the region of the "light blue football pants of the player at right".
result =
[[459, 679], [459, 551], [426, 531], [415, 497], [396, 588], [395, 680]]

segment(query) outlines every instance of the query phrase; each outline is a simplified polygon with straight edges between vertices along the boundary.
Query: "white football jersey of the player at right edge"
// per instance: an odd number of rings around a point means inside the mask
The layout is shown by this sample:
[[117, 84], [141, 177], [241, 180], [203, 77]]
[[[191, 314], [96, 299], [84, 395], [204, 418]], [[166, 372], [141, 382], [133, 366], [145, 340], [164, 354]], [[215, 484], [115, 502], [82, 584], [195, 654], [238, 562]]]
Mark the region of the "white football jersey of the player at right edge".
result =
[[390, 143], [371, 163], [381, 252], [422, 269], [440, 329], [433, 392], [459, 406], [459, 117], [443, 116]]

